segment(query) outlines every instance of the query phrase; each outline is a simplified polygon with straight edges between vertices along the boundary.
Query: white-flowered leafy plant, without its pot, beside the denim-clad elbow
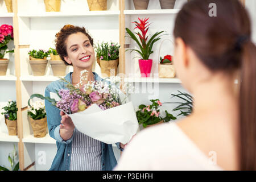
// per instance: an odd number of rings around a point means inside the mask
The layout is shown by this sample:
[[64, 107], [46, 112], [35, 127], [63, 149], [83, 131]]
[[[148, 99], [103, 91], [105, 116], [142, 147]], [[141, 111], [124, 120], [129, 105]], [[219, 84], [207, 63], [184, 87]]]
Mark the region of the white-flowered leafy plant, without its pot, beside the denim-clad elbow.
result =
[[44, 102], [36, 101], [35, 104], [32, 104], [32, 106], [29, 107], [27, 114], [34, 120], [45, 118], [46, 107], [44, 106]]

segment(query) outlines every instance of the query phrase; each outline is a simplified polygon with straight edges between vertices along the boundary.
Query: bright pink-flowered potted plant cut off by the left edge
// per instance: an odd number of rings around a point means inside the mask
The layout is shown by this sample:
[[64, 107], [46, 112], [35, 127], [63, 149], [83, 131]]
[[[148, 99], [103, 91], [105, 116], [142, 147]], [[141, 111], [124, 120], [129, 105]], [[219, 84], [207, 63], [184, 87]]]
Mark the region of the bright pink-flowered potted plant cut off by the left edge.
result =
[[7, 44], [13, 40], [13, 26], [2, 24], [0, 27], [0, 76], [6, 75], [9, 59], [4, 59], [5, 53], [14, 52], [14, 50], [6, 51]]

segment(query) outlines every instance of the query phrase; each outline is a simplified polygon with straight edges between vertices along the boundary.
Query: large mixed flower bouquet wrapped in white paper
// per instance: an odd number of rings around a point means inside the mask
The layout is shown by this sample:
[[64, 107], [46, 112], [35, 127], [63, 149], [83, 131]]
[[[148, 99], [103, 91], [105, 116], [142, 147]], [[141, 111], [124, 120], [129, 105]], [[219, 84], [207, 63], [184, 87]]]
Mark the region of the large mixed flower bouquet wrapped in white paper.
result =
[[50, 98], [32, 94], [30, 99], [48, 100], [68, 114], [77, 130], [89, 137], [109, 144], [129, 142], [138, 129], [133, 105], [125, 103], [125, 94], [106, 80], [87, 82], [87, 73], [86, 70], [81, 72], [80, 82], [75, 86], [61, 78], [67, 89], [51, 92]]

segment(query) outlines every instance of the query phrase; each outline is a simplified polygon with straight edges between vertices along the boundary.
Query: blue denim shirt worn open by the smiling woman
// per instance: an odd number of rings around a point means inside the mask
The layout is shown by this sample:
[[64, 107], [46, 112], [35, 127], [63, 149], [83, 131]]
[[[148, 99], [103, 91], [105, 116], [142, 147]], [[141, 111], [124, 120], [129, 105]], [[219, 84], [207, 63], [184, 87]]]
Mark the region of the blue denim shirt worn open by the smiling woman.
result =
[[[103, 80], [100, 76], [97, 75], [97, 73], [94, 73], [94, 80]], [[72, 82], [72, 72], [68, 73], [68, 75], [65, 76], [65, 79], [69, 82]], [[46, 87], [45, 90], [45, 97], [50, 97], [50, 92], [56, 93], [56, 90], [59, 91], [60, 89], [65, 89], [66, 83], [57, 80], [51, 82]], [[45, 100], [45, 106], [46, 106], [46, 115], [47, 115], [47, 124], [49, 129], [49, 135], [56, 140], [57, 145], [57, 154], [55, 158], [53, 159], [52, 166], [49, 169], [57, 170], [57, 171], [68, 171], [69, 170], [69, 164], [71, 162], [71, 151], [72, 151], [72, 139], [73, 135], [68, 140], [63, 140], [60, 137], [60, 121], [61, 121], [61, 115], [60, 110], [57, 109], [57, 107], [53, 106], [49, 101]], [[104, 118], [102, 118], [104, 119]], [[120, 148], [120, 143], [116, 143], [119, 150], [122, 150]], [[116, 165], [117, 160], [115, 159], [112, 144], [106, 144], [101, 142], [101, 166], [102, 171], [111, 171]]]

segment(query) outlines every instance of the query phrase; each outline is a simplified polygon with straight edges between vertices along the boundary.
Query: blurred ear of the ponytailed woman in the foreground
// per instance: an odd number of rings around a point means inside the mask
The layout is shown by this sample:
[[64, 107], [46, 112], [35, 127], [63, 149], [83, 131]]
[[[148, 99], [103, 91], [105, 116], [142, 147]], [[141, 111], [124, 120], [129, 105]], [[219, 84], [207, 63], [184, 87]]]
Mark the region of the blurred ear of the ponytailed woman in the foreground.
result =
[[179, 47], [178, 53], [179, 53], [180, 60], [182, 61], [182, 64], [184, 65], [184, 67], [187, 68], [189, 65], [187, 45], [184, 43], [183, 39], [177, 38], [176, 46]]

